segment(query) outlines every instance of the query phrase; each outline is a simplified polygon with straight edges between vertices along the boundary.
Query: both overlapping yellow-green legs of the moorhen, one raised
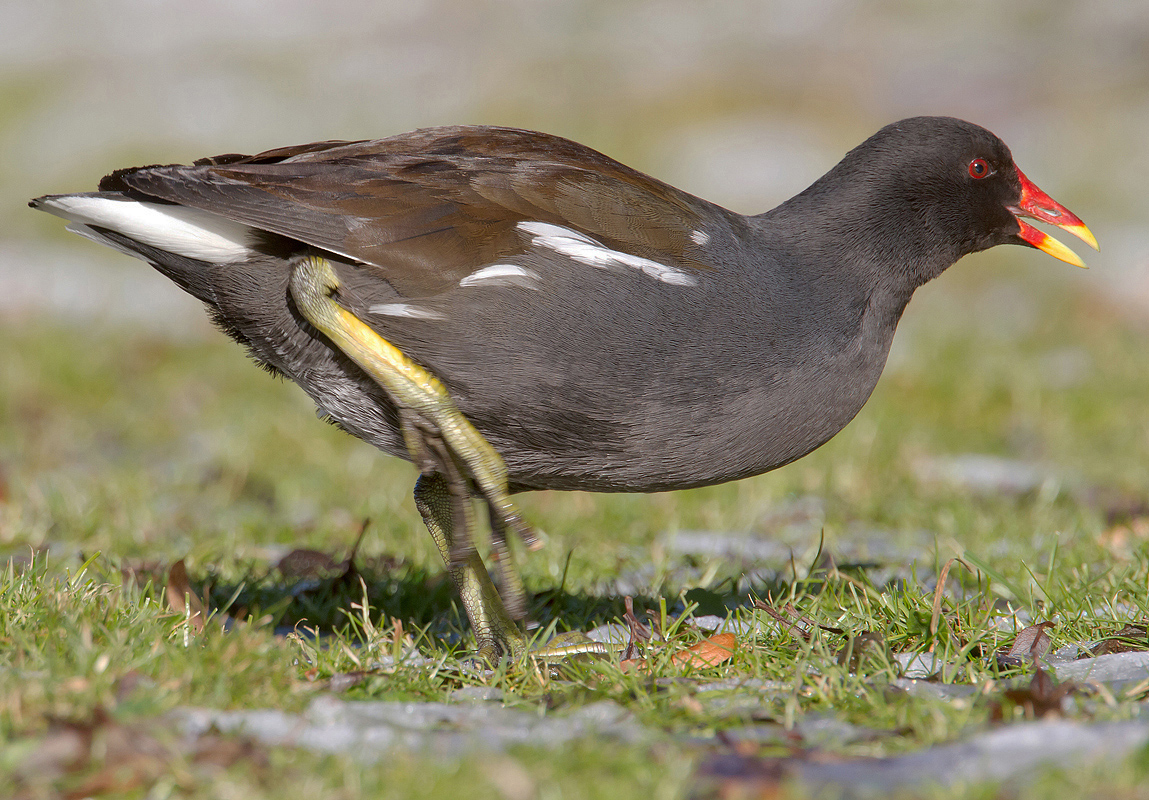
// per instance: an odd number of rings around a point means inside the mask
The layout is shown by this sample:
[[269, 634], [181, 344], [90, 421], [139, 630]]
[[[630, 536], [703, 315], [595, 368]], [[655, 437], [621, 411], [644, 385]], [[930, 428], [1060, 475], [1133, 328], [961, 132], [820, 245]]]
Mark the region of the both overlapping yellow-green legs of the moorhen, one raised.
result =
[[422, 472], [415, 502], [458, 587], [479, 652], [488, 659], [520, 655], [526, 639], [473, 547], [472, 483], [489, 511], [492, 554], [500, 563], [503, 590], [512, 610], [522, 616], [522, 585], [507, 552], [506, 531], [514, 530], [526, 541], [533, 541], [533, 533], [510, 502], [502, 457], [460, 413], [434, 375], [338, 303], [339, 278], [326, 260], [301, 259], [292, 272], [291, 292], [303, 317], [400, 408], [408, 452]]

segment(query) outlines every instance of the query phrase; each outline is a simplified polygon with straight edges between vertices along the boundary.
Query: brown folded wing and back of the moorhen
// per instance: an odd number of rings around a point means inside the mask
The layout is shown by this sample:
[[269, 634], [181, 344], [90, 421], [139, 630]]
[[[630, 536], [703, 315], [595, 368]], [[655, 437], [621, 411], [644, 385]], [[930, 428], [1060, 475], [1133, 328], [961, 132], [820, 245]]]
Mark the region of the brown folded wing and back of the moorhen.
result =
[[437, 128], [146, 167], [105, 178], [356, 261], [404, 297], [520, 253], [515, 225], [572, 228], [608, 247], [705, 269], [701, 215], [735, 215], [573, 141], [506, 128]]

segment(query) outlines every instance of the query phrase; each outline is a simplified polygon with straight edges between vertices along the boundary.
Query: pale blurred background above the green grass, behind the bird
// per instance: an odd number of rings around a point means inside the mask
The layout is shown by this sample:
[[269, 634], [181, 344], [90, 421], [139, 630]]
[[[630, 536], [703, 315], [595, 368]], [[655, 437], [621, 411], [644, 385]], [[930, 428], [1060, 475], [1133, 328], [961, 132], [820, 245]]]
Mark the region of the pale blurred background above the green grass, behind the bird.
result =
[[6, 316], [207, 330], [167, 280], [24, 207], [117, 167], [489, 123], [757, 213], [917, 114], [1004, 138], [1104, 245], [1088, 275], [1047, 271], [1149, 314], [1141, 0], [3, 0], [0, 29]]

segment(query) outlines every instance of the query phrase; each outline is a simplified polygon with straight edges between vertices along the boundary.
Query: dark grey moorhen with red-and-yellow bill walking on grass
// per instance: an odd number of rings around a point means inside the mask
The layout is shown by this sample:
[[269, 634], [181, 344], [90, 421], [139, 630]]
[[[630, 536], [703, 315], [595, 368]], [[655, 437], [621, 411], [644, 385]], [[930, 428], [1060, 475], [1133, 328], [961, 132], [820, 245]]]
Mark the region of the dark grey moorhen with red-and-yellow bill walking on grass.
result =
[[[478, 125], [117, 169], [30, 205], [151, 263], [321, 416], [411, 461], [492, 661], [530, 647], [515, 493], [791, 463], [857, 415], [913, 292], [962, 256], [1015, 244], [1084, 266], [1026, 220], [1097, 248], [1000, 138], [925, 116], [750, 216]], [[484, 508], [498, 585], [473, 545]]]

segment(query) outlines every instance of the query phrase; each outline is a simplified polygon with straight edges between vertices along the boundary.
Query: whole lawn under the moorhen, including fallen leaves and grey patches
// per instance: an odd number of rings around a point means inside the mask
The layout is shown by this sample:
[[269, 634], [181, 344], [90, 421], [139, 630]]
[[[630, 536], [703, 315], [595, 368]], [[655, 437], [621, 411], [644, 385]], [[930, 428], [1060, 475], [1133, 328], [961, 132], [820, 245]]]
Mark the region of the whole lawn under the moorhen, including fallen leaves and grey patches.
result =
[[[1149, 649], [1149, 324], [998, 249], [919, 292], [874, 397], [809, 457], [518, 499], [538, 631], [622, 622], [631, 597], [653, 631], [625, 662], [475, 664], [414, 469], [223, 336], [0, 322], [0, 793], [822, 797], [1039, 720], [1143, 725], [1149, 672], [1058, 676]], [[710, 657], [715, 617], [734, 644]], [[333, 731], [401, 702], [407, 738], [376, 748], [242, 715]], [[1142, 745], [886, 795], [1149, 797], [1147, 769]]]

